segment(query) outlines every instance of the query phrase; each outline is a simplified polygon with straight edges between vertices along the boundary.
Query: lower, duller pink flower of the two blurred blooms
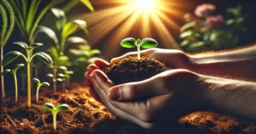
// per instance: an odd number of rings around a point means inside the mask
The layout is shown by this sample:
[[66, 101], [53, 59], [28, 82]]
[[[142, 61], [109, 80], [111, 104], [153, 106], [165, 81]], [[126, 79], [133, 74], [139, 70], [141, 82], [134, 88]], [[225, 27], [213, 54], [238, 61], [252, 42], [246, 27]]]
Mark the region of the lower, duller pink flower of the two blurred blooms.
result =
[[225, 20], [222, 15], [210, 16], [207, 18], [207, 25], [210, 27], [221, 27], [225, 25]]

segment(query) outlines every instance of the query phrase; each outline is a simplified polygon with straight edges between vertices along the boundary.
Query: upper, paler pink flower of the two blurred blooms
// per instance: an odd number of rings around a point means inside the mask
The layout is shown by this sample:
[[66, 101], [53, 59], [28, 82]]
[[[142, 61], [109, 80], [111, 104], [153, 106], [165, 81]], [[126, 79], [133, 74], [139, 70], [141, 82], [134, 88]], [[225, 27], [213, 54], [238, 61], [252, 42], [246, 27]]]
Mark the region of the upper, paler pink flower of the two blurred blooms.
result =
[[195, 15], [197, 17], [203, 17], [204, 15], [212, 14], [216, 10], [216, 7], [210, 3], [204, 3], [195, 8]]

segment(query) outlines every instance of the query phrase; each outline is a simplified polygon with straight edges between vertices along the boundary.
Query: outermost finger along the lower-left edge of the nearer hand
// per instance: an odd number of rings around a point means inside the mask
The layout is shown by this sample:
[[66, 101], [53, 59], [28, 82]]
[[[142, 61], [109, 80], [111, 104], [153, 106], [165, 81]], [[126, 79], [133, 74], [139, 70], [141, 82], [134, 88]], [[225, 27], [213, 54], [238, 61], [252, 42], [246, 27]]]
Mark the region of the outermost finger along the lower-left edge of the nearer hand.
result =
[[[90, 75], [90, 79], [93, 83], [94, 88], [96, 89], [97, 94], [99, 95], [99, 97], [101, 98], [102, 102], [104, 103], [104, 105], [106, 106], [106, 108], [113, 114], [117, 115], [118, 117], [125, 119], [125, 120], [129, 120], [133, 123], [136, 123], [139, 126], [142, 126], [144, 128], [152, 128], [154, 127], [154, 124], [152, 123], [147, 123], [147, 122], [143, 122], [142, 120], [138, 120], [136, 117], [132, 116], [131, 114], [127, 114], [125, 113], [125, 111], [122, 111], [120, 109], [115, 108], [108, 99], [108, 95], [106, 94], [106, 92], [104, 92], [104, 90], [109, 89], [109, 87], [104, 87], [107, 89], [102, 89], [99, 85], [108, 85], [106, 83], [98, 83], [96, 81], [96, 78], [93, 74]], [[105, 81], [108, 82], [108, 81]]]

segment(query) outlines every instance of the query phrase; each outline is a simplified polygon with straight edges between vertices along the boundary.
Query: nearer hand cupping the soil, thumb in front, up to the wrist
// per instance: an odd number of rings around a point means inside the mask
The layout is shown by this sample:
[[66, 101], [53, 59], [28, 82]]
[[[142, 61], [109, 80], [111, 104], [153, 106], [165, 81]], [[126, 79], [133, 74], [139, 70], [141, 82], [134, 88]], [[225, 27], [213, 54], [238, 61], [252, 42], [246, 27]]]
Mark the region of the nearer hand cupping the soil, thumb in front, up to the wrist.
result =
[[144, 128], [200, 109], [199, 75], [189, 70], [169, 70], [145, 80], [114, 86], [101, 70], [93, 70], [90, 84], [107, 109]]

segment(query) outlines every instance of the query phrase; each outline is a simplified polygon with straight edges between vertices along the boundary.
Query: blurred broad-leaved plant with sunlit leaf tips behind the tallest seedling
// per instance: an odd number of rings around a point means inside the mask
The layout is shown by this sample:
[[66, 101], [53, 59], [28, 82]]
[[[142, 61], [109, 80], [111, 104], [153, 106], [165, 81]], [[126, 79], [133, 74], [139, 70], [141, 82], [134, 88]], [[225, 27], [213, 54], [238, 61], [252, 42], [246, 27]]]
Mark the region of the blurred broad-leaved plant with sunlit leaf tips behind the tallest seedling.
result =
[[63, 10], [59, 8], [51, 8], [51, 14], [55, 15], [57, 18], [54, 27], [47, 27], [44, 25], [39, 25], [37, 30], [37, 35], [39, 33], [44, 33], [52, 41], [54, 41], [54, 46], [49, 47], [48, 52], [54, 59], [54, 67], [58, 68], [61, 65], [70, 65], [68, 62], [68, 57], [65, 55], [67, 47], [71, 44], [87, 43], [83, 38], [79, 36], [71, 36], [75, 31], [83, 30], [84, 33], [88, 33], [87, 25], [84, 20], [71, 20], [67, 21], [66, 14]]

